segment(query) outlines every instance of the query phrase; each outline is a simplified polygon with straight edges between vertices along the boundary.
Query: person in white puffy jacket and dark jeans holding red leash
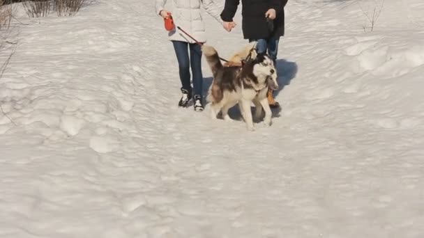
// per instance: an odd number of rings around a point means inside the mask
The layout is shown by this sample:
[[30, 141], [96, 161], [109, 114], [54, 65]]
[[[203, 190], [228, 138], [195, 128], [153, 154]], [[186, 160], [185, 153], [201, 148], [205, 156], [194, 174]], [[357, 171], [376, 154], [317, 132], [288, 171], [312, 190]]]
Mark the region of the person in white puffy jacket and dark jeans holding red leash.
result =
[[[214, 17], [220, 24], [223, 24], [220, 17], [220, 10], [213, 0], [169, 0], [172, 10], [165, 10], [167, 0], [156, 0], [156, 13], [165, 18], [169, 14], [174, 20], [175, 29], [169, 31], [168, 38], [174, 45], [176, 59], [179, 64], [179, 77], [181, 79], [181, 99], [179, 106], [187, 107], [188, 102], [194, 98], [195, 111], [203, 111], [202, 102], [202, 50], [198, 42], [206, 42], [205, 25], [201, 13], [201, 6], [209, 15]], [[192, 38], [179, 31], [180, 27]], [[190, 49], [190, 54], [189, 54]], [[192, 83], [190, 85], [190, 65], [192, 71]], [[194, 96], [194, 97], [193, 97]]]

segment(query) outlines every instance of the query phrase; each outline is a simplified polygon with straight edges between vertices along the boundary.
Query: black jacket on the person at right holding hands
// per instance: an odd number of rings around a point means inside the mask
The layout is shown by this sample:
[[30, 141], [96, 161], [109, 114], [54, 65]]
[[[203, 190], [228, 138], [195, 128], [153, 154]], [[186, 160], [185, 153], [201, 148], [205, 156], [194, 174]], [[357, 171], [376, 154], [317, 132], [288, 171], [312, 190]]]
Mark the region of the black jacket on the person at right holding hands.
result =
[[[239, 3], [240, 0], [225, 0], [224, 10], [221, 13], [222, 21], [233, 21]], [[287, 0], [241, 0], [243, 37], [257, 40], [284, 35], [284, 7], [286, 4]], [[276, 18], [272, 21], [272, 29], [265, 17], [266, 11], [270, 8], [274, 8], [277, 13]]]

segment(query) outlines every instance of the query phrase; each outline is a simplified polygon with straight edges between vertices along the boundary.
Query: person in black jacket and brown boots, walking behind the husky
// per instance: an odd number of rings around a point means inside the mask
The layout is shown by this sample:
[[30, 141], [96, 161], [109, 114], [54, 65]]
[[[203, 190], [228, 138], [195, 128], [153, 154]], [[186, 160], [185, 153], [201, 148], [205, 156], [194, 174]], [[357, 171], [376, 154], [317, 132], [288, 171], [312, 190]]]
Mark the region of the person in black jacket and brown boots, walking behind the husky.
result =
[[[285, 34], [284, 7], [288, 0], [241, 0], [241, 16], [243, 38], [249, 42], [257, 41], [258, 53], [268, 52], [274, 61], [277, 60], [278, 43]], [[231, 31], [236, 24], [233, 17], [239, 7], [240, 0], [225, 0], [221, 13], [224, 28]], [[273, 91], [268, 91], [268, 103], [271, 107], [279, 106], [273, 98]]]

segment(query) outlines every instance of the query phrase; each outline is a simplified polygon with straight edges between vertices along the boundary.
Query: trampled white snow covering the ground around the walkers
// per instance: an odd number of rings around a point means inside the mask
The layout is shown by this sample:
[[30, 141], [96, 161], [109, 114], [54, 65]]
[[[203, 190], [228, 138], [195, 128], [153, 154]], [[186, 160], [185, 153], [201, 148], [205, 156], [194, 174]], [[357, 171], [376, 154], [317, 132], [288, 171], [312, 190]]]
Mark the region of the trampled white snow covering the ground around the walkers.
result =
[[[282, 109], [255, 132], [177, 108], [154, 1], [20, 15], [0, 79], [0, 237], [424, 237], [424, 3], [386, 0], [364, 32], [371, 2], [287, 3]], [[246, 43], [236, 21], [206, 15], [224, 58]]]

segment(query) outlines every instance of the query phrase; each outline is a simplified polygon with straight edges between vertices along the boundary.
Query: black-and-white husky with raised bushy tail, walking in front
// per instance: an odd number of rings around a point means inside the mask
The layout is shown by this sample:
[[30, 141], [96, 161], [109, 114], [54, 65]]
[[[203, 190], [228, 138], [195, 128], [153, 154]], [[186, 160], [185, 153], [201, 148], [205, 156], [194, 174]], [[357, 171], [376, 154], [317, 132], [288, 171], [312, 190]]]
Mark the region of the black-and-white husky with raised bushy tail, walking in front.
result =
[[[247, 49], [247, 48], [246, 48]], [[273, 61], [267, 54], [257, 54], [253, 51], [243, 65], [225, 67], [215, 48], [203, 45], [202, 51], [213, 74], [213, 82], [209, 88], [206, 100], [211, 102], [211, 116], [216, 119], [222, 112], [222, 118], [232, 121], [228, 110], [239, 104], [248, 130], [253, 131], [252, 111], [250, 103], [256, 106], [255, 118], [262, 116], [265, 111], [264, 122], [271, 125], [271, 108], [266, 93], [268, 88], [278, 89], [277, 72]]]

